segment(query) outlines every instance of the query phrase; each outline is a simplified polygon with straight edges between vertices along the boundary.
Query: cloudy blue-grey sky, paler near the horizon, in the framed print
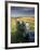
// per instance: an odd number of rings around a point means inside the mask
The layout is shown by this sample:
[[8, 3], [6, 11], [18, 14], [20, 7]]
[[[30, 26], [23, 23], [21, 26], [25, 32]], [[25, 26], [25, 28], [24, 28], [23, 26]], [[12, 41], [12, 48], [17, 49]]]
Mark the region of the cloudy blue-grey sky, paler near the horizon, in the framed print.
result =
[[11, 17], [35, 16], [35, 8], [11, 7]]

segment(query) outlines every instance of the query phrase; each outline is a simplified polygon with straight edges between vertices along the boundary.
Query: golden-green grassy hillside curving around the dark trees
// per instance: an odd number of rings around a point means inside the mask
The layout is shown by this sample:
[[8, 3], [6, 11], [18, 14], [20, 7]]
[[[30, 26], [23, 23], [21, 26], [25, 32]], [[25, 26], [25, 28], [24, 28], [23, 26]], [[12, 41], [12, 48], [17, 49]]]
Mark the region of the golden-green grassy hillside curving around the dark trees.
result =
[[11, 17], [11, 34], [14, 34], [16, 29], [16, 21], [27, 22], [30, 25], [30, 30], [35, 29], [35, 17]]

